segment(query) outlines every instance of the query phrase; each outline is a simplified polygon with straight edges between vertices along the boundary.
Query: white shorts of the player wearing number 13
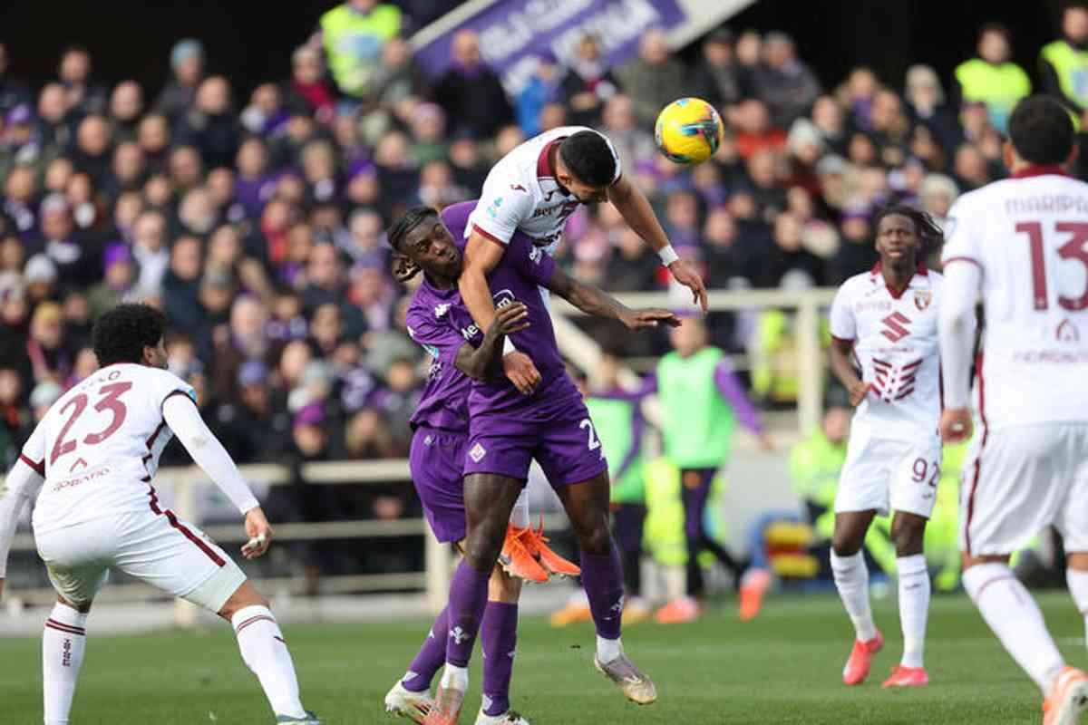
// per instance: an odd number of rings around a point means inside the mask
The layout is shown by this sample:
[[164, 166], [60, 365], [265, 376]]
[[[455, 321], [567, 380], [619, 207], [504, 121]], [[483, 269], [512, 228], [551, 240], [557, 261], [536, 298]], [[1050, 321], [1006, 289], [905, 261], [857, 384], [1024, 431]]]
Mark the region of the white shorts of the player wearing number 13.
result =
[[1066, 551], [1088, 551], [1088, 423], [976, 432], [960, 499], [969, 554], [1011, 554], [1051, 525]]

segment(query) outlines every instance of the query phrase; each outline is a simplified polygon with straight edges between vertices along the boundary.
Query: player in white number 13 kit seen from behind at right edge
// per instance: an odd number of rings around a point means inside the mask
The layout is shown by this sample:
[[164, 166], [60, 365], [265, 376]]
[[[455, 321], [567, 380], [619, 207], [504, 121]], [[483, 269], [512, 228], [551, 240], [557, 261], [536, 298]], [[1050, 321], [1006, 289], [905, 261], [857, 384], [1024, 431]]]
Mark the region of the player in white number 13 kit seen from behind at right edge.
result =
[[[1009, 135], [1012, 178], [964, 195], [949, 218], [941, 435], [954, 442], [975, 432], [961, 485], [964, 588], [1038, 684], [1043, 722], [1070, 725], [1088, 705], [1088, 676], [1065, 666], [1009, 557], [1055, 526], [1070, 591], [1088, 615], [1088, 184], [1060, 166], [1075, 147], [1056, 101], [1021, 101]], [[968, 378], [979, 293], [976, 426]]]

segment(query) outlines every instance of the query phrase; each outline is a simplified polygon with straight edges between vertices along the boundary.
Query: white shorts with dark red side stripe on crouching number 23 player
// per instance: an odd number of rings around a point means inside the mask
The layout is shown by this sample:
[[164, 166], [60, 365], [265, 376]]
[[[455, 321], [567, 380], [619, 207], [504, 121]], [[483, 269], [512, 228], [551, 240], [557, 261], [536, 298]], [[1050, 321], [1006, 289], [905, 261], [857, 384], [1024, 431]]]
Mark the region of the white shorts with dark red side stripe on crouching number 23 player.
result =
[[35, 537], [53, 588], [88, 604], [111, 568], [219, 612], [246, 575], [214, 541], [172, 512], [103, 516]]

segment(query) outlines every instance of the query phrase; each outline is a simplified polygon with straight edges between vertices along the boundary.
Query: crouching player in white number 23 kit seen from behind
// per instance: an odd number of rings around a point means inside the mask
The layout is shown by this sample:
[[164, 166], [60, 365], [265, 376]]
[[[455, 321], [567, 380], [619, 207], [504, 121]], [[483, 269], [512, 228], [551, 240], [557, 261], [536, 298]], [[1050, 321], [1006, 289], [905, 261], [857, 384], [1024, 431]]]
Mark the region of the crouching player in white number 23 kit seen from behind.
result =
[[91, 602], [110, 570], [230, 622], [277, 723], [320, 725], [302, 708], [283, 633], [238, 565], [196, 526], [160, 505], [151, 479], [174, 435], [245, 515], [246, 559], [272, 529], [231, 457], [200, 418], [196, 393], [166, 372], [165, 318], [123, 304], [94, 329], [101, 368], [46, 413], [0, 496], [0, 592], [15, 523], [36, 499], [34, 537], [57, 589], [42, 634], [45, 723], [69, 722]]

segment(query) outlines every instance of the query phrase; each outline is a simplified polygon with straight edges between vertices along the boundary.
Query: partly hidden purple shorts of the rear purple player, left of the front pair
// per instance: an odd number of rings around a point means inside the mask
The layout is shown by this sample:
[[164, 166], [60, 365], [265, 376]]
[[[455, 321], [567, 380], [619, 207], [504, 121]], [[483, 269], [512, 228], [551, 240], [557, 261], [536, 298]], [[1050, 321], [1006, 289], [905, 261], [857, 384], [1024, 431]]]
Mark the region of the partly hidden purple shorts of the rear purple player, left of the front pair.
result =
[[465, 538], [465, 449], [468, 434], [420, 427], [408, 463], [423, 515], [443, 543]]

